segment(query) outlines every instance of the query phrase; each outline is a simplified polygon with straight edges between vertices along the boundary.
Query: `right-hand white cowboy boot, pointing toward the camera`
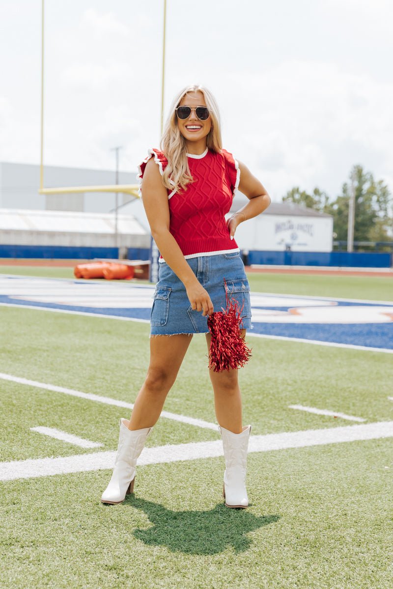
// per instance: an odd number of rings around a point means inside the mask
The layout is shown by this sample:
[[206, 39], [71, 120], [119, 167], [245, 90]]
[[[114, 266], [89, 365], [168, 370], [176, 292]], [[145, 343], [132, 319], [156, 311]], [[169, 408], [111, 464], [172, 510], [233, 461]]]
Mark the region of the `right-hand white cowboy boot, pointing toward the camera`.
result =
[[234, 434], [219, 425], [224, 448], [225, 471], [223, 497], [226, 507], [248, 507], [246, 491], [247, 448], [251, 426]]

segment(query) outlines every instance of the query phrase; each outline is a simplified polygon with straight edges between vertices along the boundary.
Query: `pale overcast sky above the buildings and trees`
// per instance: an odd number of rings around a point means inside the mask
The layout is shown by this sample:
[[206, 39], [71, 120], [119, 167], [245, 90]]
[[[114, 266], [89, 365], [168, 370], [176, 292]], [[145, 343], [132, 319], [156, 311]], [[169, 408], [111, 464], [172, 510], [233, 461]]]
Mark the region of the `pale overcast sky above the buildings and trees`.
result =
[[[165, 107], [206, 85], [223, 146], [273, 200], [393, 191], [391, 0], [167, 0]], [[45, 3], [46, 164], [136, 171], [160, 140], [163, 0]], [[41, 2], [0, 3], [0, 161], [39, 163]]]

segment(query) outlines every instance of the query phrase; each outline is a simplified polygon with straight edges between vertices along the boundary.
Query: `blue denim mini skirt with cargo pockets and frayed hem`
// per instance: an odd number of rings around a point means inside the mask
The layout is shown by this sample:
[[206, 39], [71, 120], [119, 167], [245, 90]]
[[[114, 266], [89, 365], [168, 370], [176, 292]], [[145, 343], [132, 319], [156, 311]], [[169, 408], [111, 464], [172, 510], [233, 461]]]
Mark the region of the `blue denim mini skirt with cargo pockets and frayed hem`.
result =
[[[250, 329], [250, 285], [240, 252], [213, 254], [186, 259], [191, 270], [212, 299], [214, 311], [226, 310], [228, 299], [236, 300], [240, 307], [241, 329]], [[186, 287], [166, 262], [158, 267], [158, 282], [153, 293], [150, 313], [150, 336], [177, 333], [209, 333], [207, 315], [191, 309]]]

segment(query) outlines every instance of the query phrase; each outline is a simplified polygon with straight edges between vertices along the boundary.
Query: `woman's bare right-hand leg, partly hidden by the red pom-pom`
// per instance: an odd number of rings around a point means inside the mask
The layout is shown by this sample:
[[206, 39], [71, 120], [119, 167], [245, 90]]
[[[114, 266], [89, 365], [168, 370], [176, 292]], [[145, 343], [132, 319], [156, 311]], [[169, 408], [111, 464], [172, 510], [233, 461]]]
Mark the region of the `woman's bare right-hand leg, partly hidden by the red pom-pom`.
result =
[[[246, 329], [242, 329], [241, 335], [244, 339]], [[208, 352], [211, 340], [210, 333], [206, 333]], [[209, 369], [209, 374], [213, 385], [217, 421], [223, 428], [229, 429], [234, 434], [241, 434], [243, 431], [242, 395], [237, 381], [238, 370], [214, 372], [213, 369]]]

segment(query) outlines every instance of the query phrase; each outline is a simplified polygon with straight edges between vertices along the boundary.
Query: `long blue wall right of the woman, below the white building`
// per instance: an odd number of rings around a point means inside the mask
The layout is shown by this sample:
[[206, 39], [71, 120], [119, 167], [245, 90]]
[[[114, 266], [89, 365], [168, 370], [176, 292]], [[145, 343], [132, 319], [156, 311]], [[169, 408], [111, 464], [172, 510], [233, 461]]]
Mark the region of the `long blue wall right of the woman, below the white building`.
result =
[[256, 252], [250, 251], [249, 264], [275, 266], [344, 266], [352, 268], [389, 268], [392, 254], [375, 252]]

